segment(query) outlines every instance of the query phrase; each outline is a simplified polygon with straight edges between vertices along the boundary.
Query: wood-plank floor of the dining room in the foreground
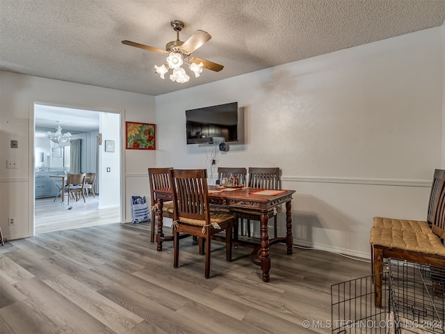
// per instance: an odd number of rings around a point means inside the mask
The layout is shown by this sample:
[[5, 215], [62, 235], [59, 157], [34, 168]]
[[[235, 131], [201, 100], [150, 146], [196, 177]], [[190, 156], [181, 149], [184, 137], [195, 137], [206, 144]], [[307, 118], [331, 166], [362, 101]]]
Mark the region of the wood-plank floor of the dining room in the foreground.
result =
[[0, 333], [331, 333], [330, 287], [369, 276], [369, 263], [319, 250], [270, 248], [270, 283], [250, 248], [212, 242], [211, 278], [191, 238], [179, 267], [172, 243], [149, 242], [149, 223], [37, 234], [0, 246]]

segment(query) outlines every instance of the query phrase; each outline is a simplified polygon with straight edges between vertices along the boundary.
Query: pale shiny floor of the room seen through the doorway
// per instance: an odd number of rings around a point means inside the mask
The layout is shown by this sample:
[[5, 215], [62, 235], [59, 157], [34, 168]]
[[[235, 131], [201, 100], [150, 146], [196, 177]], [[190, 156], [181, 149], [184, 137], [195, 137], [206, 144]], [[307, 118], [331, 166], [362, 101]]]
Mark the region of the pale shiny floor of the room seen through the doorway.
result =
[[99, 195], [94, 198], [90, 194], [86, 202], [83, 202], [83, 198], [78, 201], [70, 200], [70, 205], [66, 202], [66, 195], [65, 202], [61, 202], [60, 197], [56, 202], [53, 197], [35, 199], [35, 234], [120, 223], [119, 207], [97, 208]]

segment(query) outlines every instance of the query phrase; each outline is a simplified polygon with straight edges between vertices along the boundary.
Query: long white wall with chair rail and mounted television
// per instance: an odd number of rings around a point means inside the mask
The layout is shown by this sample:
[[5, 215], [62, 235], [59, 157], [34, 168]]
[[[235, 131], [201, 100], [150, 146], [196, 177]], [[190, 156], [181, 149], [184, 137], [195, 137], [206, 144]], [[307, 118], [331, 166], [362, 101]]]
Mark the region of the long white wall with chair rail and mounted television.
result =
[[158, 96], [157, 166], [208, 167], [185, 110], [238, 101], [245, 143], [217, 167], [282, 168], [295, 242], [368, 257], [373, 216], [426, 218], [444, 167], [442, 63], [435, 28]]

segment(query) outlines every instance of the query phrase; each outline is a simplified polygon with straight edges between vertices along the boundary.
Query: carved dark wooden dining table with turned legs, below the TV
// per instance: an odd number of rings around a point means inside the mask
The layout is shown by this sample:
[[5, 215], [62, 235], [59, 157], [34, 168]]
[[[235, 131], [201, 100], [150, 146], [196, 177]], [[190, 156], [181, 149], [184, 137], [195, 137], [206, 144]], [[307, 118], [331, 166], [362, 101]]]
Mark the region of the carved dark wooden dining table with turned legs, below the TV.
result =
[[[210, 205], [223, 205], [229, 208], [250, 209], [258, 212], [261, 216], [261, 236], [260, 242], [254, 243], [250, 240], [234, 238], [235, 246], [246, 246], [254, 248], [252, 250], [251, 260], [254, 264], [261, 267], [262, 280], [270, 281], [270, 252], [269, 246], [278, 242], [286, 243], [286, 253], [292, 254], [293, 237], [292, 237], [292, 212], [291, 201], [294, 190], [276, 190], [276, 189], [258, 189], [250, 187], [225, 187], [209, 185], [209, 202]], [[163, 235], [163, 214], [162, 207], [164, 200], [172, 200], [171, 189], [156, 189], [156, 198], [158, 200], [158, 225], [156, 233], [157, 250], [162, 250]], [[268, 212], [271, 209], [280, 207], [282, 204], [286, 206], [286, 235], [269, 238], [268, 234]]]

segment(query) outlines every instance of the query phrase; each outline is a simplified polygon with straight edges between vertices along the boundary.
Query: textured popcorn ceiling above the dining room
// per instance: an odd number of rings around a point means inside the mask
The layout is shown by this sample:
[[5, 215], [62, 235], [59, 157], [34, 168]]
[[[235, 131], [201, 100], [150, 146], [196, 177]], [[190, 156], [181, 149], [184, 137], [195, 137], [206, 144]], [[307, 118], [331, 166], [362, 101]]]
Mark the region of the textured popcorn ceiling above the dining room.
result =
[[[172, 19], [211, 40], [194, 56], [224, 65], [178, 84], [154, 74]], [[445, 0], [0, 0], [0, 69], [160, 95], [412, 33], [445, 21]]]

